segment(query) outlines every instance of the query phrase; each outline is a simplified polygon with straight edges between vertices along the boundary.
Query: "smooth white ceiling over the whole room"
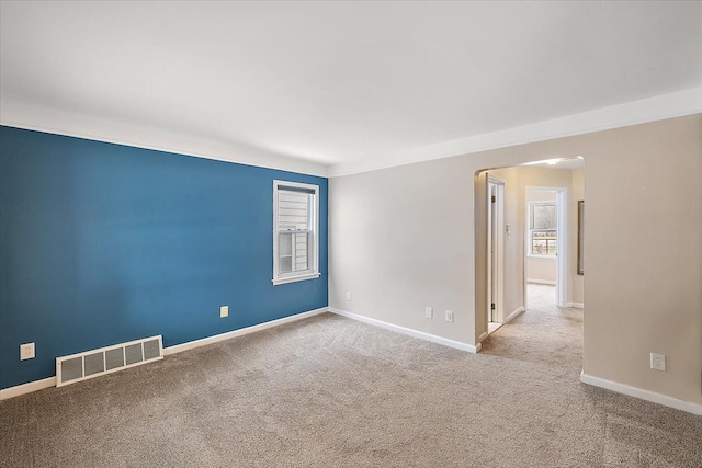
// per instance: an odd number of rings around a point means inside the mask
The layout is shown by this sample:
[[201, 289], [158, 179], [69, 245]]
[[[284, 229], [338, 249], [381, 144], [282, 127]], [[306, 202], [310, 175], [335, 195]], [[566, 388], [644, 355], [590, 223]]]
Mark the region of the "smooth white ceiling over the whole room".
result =
[[18, 110], [33, 109], [55, 116], [49, 129], [89, 119], [88, 137], [118, 139], [122, 125], [137, 145], [170, 135], [168, 149], [190, 138], [331, 173], [702, 91], [698, 1], [23, 1], [0, 13], [5, 125], [31, 127]]

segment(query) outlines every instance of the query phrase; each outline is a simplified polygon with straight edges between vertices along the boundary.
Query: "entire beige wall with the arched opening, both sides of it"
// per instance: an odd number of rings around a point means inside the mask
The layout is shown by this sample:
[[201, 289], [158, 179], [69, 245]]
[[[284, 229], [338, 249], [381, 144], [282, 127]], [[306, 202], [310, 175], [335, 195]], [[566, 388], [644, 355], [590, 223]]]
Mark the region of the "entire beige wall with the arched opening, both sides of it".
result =
[[[584, 372], [702, 403], [701, 114], [331, 179], [331, 307], [476, 344], [486, 259], [475, 174], [577, 155], [587, 172]], [[424, 319], [426, 306], [441, 313]], [[648, 368], [650, 352], [667, 355], [666, 373]]]

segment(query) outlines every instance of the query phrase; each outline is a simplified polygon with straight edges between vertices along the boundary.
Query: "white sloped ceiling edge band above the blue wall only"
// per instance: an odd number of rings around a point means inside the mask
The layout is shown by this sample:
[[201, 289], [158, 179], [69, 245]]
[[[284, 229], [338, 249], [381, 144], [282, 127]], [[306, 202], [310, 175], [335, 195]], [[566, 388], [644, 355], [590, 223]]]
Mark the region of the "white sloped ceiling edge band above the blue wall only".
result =
[[312, 161], [182, 134], [66, 113], [2, 98], [0, 125], [326, 178]]

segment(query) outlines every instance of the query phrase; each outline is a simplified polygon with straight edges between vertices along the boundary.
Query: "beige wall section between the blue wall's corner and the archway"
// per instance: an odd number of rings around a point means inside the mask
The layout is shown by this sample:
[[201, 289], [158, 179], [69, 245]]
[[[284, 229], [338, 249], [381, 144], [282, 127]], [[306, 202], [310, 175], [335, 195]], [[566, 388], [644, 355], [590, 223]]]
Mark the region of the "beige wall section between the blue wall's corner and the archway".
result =
[[[469, 343], [473, 184], [465, 160], [437, 162], [330, 179], [329, 304]], [[453, 323], [444, 310], [454, 311]]]

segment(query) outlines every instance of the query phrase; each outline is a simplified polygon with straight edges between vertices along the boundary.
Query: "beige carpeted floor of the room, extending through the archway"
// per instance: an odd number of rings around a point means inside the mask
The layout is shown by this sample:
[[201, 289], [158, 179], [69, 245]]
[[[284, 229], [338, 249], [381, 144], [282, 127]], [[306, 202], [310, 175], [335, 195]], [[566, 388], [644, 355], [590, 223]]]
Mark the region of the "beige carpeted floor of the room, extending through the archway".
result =
[[474, 355], [325, 313], [2, 401], [0, 466], [701, 467], [702, 418], [579, 383], [581, 328]]

